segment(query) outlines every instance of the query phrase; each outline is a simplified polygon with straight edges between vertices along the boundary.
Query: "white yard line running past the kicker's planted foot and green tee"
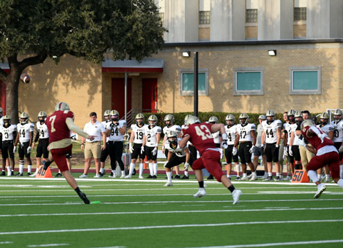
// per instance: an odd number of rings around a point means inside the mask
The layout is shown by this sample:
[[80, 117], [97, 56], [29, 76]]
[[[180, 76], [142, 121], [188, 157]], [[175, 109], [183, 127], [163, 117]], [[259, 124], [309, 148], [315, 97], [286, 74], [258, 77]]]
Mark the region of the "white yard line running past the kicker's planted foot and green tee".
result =
[[[77, 196], [75, 196], [77, 198]], [[330, 201], [343, 201], [343, 199], [285, 199], [285, 200], [240, 200], [240, 202], [330, 202]], [[168, 203], [227, 203], [232, 202], [232, 200], [225, 200], [225, 201], [164, 201], [164, 202], [101, 202], [101, 204], [168, 204]], [[53, 205], [80, 205], [83, 204], [82, 202], [65, 202], [65, 203], [37, 203], [37, 204], [0, 204], [0, 206], [53, 206]]]

